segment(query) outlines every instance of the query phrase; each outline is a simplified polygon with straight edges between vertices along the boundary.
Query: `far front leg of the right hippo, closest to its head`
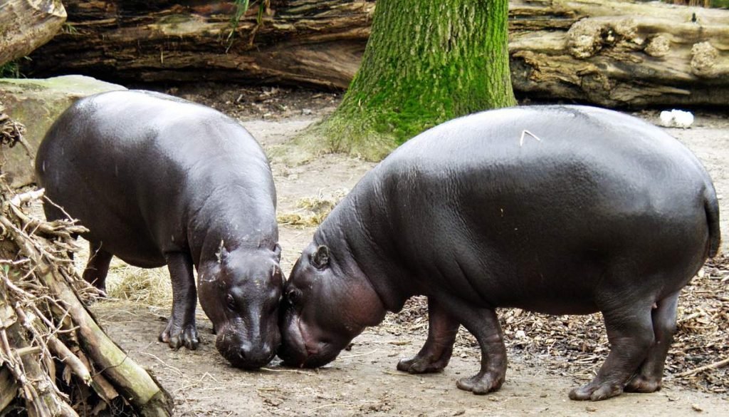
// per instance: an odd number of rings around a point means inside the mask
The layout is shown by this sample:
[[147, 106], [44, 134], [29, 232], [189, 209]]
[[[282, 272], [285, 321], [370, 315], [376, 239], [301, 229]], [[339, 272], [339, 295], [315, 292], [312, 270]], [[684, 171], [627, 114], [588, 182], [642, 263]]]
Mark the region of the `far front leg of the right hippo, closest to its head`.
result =
[[451, 360], [459, 326], [459, 321], [428, 297], [428, 339], [416, 356], [399, 361], [397, 370], [413, 374], [443, 370]]

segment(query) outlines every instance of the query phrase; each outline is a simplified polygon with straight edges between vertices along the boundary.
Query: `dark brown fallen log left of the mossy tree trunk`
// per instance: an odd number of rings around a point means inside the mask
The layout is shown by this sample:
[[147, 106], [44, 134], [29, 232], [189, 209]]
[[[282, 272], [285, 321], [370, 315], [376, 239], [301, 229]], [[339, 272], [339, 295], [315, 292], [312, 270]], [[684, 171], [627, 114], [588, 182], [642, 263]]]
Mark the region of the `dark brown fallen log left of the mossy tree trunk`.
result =
[[65, 0], [68, 30], [24, 71], [128, 83], [348, 85], [370, 34], [373, 0], [270, 1], [263, 10], [251, 3], [235, 25], [230, 1]]

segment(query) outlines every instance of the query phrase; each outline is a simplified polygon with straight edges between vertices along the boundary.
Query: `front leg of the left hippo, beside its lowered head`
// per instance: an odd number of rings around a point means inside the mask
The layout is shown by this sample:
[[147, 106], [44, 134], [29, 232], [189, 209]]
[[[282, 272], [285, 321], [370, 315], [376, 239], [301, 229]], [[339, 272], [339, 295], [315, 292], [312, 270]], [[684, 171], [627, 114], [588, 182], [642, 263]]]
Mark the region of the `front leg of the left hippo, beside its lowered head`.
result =
[[195, 350], [198, 348], [198, 329], [195, 326], [198, 293], [192, 275], [192, 259], [182, 252], [165, 253], [165, 259], [172, 280], [172, 315], [160, 334], [160, 342], [173, 349], [184, 346]]

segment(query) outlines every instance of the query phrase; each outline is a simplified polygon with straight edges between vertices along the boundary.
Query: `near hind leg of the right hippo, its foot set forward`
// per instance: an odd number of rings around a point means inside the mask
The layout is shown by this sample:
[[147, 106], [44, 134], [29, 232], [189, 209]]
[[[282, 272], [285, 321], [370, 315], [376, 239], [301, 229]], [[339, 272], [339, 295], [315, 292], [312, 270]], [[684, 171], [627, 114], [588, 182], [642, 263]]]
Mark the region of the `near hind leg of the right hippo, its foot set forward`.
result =
[[652, 304], [648, 301], [631, 302], [602, 310], [610, 353], [590, 383], [569, 392], [570, 399], [599, 401], [623, 393], [625, 384], [654, 345]]

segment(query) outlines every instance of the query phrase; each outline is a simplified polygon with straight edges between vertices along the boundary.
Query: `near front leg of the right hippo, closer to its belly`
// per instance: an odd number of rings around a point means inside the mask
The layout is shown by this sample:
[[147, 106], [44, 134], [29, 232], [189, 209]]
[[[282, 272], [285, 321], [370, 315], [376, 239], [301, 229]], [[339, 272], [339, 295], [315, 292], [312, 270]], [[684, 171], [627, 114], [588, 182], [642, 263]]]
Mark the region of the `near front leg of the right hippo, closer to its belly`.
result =
[[470, 378], [461, 378], [456, 386], [474, 394], [488, 394], [501, 388], [506, 378], [504, 334], [491, 308], [470, 305], [462, 299], [442, 297], [439, 302], [453, 318], [473, 334], [481, 348], [481, 370]]

